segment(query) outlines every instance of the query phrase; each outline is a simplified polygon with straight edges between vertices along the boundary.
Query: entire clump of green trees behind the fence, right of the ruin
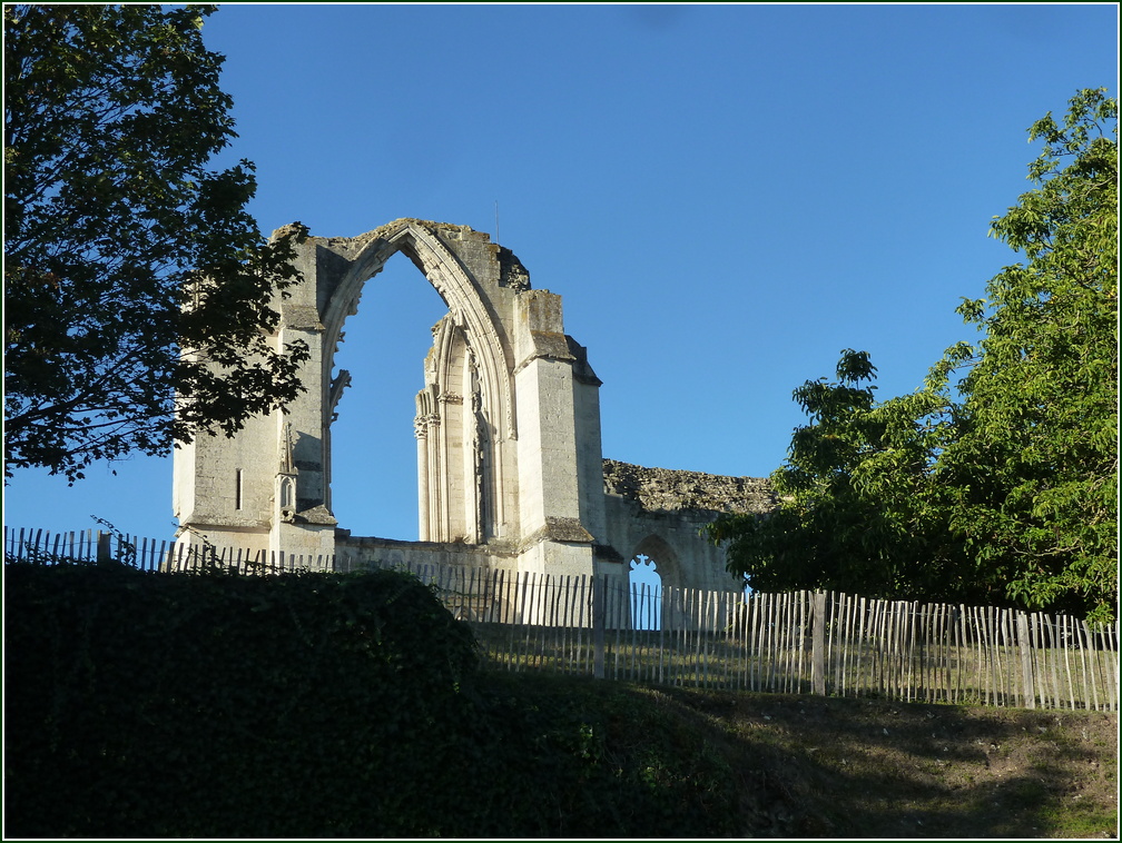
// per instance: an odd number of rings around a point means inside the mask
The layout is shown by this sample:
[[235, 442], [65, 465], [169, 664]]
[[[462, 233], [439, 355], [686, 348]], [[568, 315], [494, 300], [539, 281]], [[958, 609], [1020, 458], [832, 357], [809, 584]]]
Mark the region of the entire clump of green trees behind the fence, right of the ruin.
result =
[[795, 390], [810, 424], [772, 474], [780, 508], [708, 528], [730, 571], [765, 590], [1116, 615], [1116, 118], [1082, 91], [1063, 127], [1030, 128], [1037, 187], [991, 232], [1027, 260], [959, 307], [976, 345], [880, 404], [863, 352]]

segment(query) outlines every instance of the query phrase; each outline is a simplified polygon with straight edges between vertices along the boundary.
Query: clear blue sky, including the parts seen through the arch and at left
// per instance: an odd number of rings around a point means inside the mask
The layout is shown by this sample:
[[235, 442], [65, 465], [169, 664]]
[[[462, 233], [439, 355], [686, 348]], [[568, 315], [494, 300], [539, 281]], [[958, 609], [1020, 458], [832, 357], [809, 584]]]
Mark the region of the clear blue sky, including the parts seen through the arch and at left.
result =
[[[1017, 256], [990, 220], [1029, 189], [1026, 129], [1080, 87], [1118, 95], [1097, 4], [226, 4], [263, 232], [470, 225], [562, 296], [600, 389], [604, 455], [763, 476], [802, 423], [791, 391], [871, 352], [881, 397], [958, 340], [962, 297]], [[398, 256], [339, 364], [335, 515], [416, 537], [413, 396], [435, 291]], [[116, 471], [116, 474], [112, 472]], [[98, 515], [169, 538], [169, 458], [68, 488], [21, 471], [4, 524]]]

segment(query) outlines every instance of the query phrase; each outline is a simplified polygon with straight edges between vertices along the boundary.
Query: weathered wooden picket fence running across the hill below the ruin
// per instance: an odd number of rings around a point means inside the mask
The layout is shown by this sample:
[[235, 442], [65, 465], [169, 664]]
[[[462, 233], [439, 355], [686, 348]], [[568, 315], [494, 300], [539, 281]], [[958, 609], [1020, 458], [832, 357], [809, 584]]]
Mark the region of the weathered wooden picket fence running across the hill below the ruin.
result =
[[[6, 562], [117, 558], [145, 571], [349, 571], [366, 562], [232, 549], [93, 530], [4, 528]], [[469, 623], [497, 669], [666, 685], [904, 702], [1119, 708], [1119, 624], [993, 606], [838, 592], [652, 589], [618, 577], [405, 567]]]

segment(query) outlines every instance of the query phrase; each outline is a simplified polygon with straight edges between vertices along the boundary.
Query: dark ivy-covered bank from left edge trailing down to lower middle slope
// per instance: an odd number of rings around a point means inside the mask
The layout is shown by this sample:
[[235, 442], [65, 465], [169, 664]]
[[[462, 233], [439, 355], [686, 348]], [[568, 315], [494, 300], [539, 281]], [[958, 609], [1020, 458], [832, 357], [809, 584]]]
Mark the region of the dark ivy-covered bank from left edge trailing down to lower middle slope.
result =
[[10, 564], [4, 650], [6, 836], [737, 831], [717, 743], [481, 673], [397, 572]]

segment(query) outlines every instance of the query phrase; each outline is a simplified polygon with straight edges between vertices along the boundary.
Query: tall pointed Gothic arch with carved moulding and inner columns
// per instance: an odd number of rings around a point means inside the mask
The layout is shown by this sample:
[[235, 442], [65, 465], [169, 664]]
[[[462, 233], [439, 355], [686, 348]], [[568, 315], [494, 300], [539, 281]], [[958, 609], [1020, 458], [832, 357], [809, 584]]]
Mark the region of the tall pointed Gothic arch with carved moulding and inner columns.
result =
[[[516, 479], [512, 354], [500, 321], [471, 274], [425, 225], [399, 220], [365, 242], [321, 305], [323, 325], [323, 464], [330, 508], [330, 424], [349, 374], [332, 379], [348, 316], [367, 281], [405, 254], [449, 308], [433, 326], [425, 386], [417, 395], [421, 537], [480, 544], [509, 532], [504, 489]], [[321, 293], [321, 295], [324, 295]], [[456, 487], [454, 489], [452, 487]]]

